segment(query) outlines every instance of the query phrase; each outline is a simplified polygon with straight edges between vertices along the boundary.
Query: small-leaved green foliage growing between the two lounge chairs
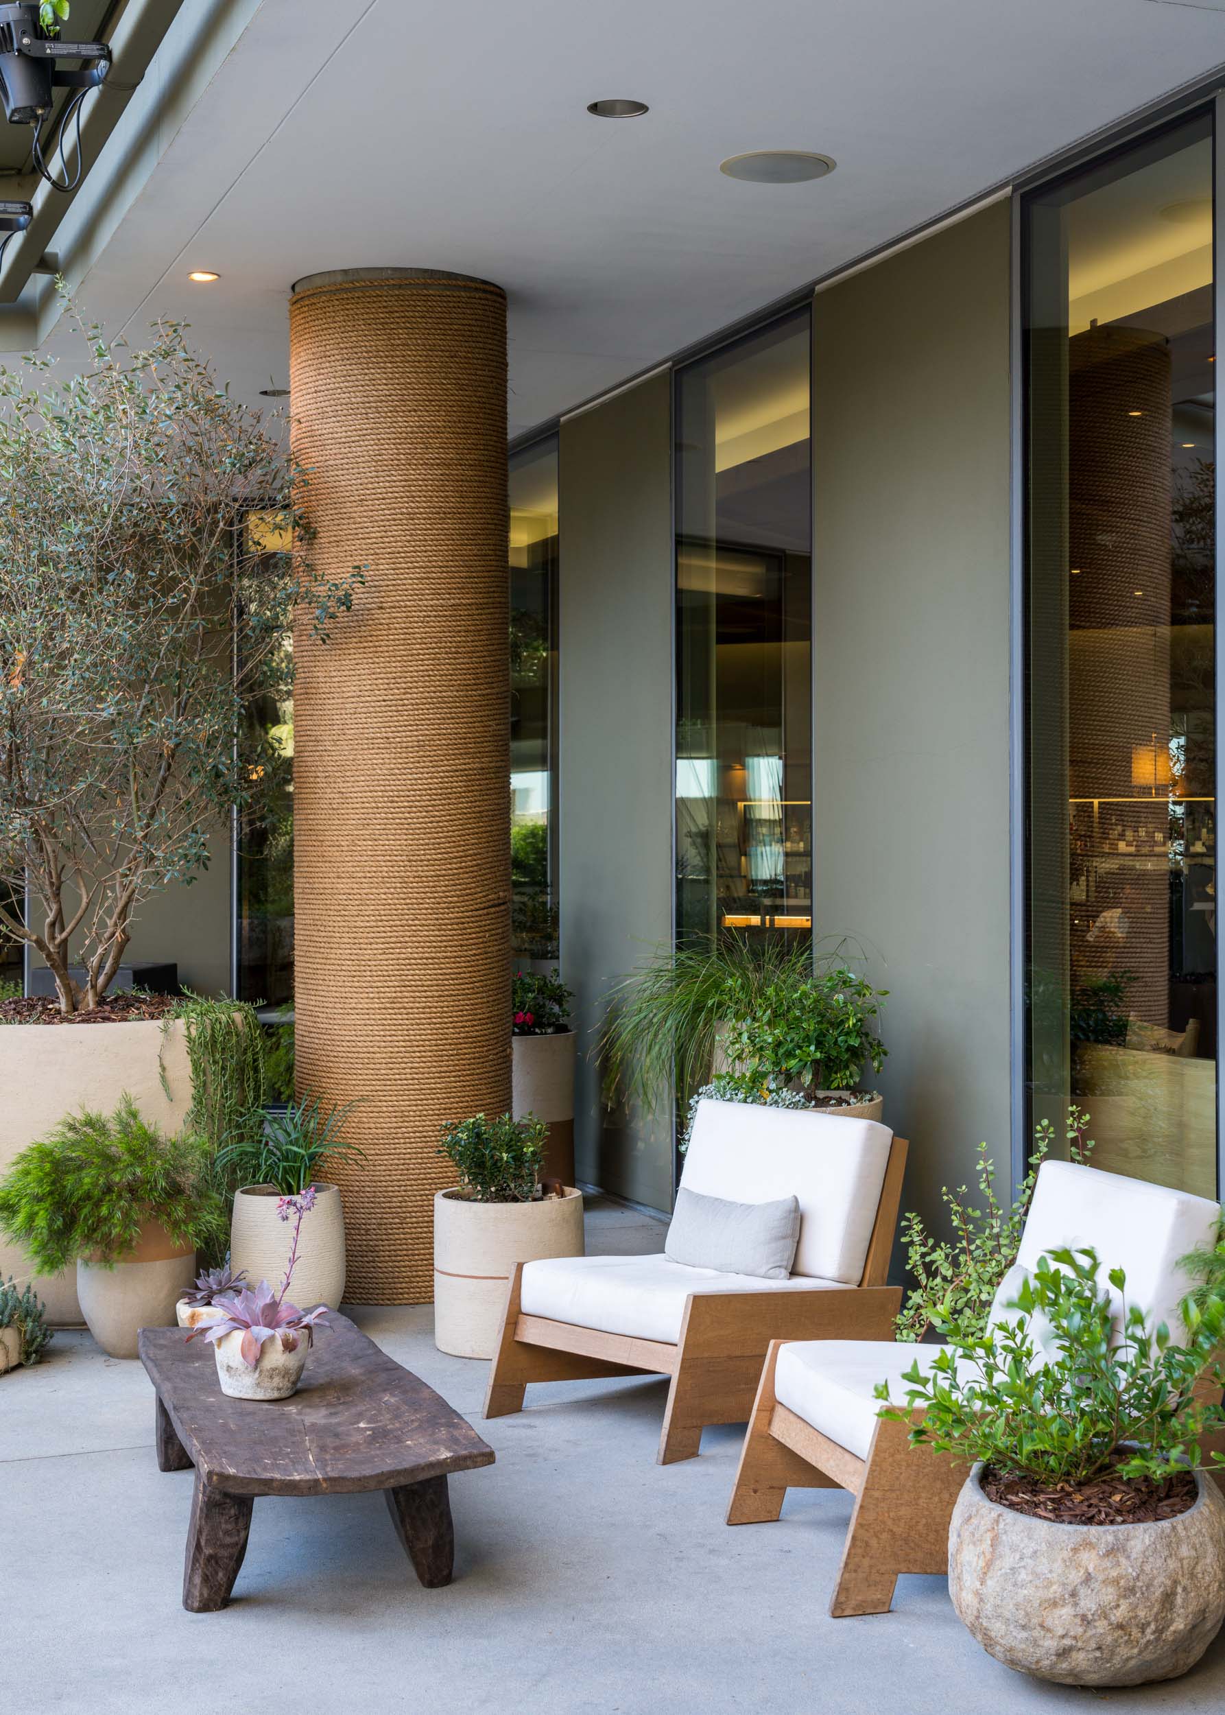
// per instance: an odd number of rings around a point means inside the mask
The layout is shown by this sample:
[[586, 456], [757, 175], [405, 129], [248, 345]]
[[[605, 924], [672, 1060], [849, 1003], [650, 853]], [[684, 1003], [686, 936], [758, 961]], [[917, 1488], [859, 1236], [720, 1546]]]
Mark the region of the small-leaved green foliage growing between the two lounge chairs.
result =
[[[1088, 1123], [1088, 1113], [1079, 1108], [1067, 1110], [1067, 1152], [1071, 1161], [1081, 1164], [1088, 1163], [1093, 1152], [1093, 1139], [1084, 1135]], [[987, 1159], [987, 1144], [980, 1144], [976, 1178], [981, 1207], [966, 1202], [969, 1194], [964, 1185], [956, 1190], [945, 1185], [940, 1192], [949, 1209], [952, 1238], [933, 1238], [918, 1214], [902, 1218], [906, 1271], [916, 1285], [896, 1322], [899, 1339], [923, 1339], [933, 1326], [945, 1322], [956, 1322], [976, 1336], [987, 1333], [995, 1290], [1017, 1259], [1038, 1168], [1053, 1142], [1053, 1125], [1050, 1120], [1040, 1120], [1035, 1127], [1029, 1171], [1011, 1209], [1000, 1204], [995, 1192], [995, 1163]]]

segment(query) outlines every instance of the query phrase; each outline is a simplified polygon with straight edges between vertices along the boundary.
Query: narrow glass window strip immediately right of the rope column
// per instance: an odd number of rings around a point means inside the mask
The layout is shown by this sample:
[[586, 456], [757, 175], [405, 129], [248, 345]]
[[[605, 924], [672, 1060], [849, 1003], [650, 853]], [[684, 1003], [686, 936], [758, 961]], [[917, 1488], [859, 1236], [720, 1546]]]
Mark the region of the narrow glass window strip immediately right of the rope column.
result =
[[510, 461], [511, 950], [558, 957], [558, 437]]

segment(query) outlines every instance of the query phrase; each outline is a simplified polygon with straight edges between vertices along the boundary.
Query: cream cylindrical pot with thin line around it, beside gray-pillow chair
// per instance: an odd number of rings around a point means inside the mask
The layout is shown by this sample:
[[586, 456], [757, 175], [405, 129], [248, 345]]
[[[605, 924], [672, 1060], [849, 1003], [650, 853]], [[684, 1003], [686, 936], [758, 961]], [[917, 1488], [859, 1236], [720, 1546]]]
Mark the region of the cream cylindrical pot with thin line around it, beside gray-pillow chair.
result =
[[516, 1262], [582, 1257], [583, 1194], [539, 1202], [434, 1197], [434, 1345], [456, 1358], [492, 1358]]

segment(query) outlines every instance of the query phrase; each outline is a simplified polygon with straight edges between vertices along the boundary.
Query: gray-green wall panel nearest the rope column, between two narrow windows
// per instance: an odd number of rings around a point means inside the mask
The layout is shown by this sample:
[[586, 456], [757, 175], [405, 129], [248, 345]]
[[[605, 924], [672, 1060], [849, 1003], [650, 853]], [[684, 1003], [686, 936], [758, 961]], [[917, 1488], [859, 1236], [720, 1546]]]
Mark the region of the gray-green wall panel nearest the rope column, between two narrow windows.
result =
[[561, 425], [561, 969], [576, 991], [578, 1176], [671, 1209], [671, 1111], [604, 1113], [607, 984], [673, 933], [671, 379]]

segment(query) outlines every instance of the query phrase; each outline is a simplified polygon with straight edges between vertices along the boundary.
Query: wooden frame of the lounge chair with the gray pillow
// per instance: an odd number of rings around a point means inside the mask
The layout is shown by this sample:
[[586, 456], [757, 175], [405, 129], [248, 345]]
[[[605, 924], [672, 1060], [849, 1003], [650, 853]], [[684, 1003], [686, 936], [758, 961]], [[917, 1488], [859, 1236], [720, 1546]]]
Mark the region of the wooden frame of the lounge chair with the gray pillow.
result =
[[770, 1341], [890, 1339], [901, 1288], [887, 1286], [885, 1276], [906, 1149], [906, 1139], [894, 1137], [858, 1286], [690, 1293], [676, 1345], [525, 1315], [520, 1309], [523, 1264], [515, 1264], [489, 1365], [484, 1415], [522, 1411], [528, 1382], [669, 1375], [657, 1459], [674, 1465], [695, 1458], [707, 1423], [743, 1423], [750, 1417]]

